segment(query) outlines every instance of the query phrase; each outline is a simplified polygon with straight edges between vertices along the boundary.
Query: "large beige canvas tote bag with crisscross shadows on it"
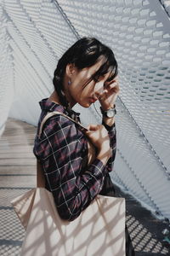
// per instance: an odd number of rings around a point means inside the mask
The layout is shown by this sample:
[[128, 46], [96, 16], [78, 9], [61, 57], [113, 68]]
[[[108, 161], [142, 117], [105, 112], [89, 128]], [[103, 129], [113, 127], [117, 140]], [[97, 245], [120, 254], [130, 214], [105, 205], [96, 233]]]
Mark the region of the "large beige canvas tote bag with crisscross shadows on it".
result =
[[123, 198], [97, 195], [78, 218], [65, 221], [37, 162], [37, 188], [11, 203], [26, 229], [21, 256], [125, 256]]

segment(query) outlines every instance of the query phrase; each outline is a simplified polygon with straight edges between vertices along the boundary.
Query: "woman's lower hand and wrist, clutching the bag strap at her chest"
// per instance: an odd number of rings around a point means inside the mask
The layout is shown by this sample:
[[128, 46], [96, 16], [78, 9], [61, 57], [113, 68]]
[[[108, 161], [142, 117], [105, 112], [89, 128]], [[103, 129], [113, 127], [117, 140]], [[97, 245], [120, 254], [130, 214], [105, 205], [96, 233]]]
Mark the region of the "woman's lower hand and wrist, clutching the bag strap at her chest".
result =
[[108, 131], [104, 125], [88, 125], [88, 131], [86, 136], [89, 138], [91, 143], [94, 144], [95, 148], [98, 149], [96, 158], [106, 164], [107, 160], [111, 157], [110, 138]]

